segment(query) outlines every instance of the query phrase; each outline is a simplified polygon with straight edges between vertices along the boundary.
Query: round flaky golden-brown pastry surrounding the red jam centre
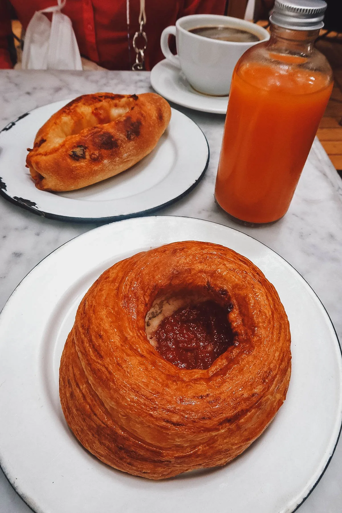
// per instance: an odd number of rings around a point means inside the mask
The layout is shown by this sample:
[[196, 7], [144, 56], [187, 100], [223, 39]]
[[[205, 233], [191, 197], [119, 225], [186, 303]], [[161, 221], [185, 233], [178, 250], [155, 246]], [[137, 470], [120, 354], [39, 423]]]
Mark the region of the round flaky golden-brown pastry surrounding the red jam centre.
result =
[[[226, 311], [227, 349], [202, 368], [163, 358], [153, 340], [163, 323], [162, 338], [172, 315], [209, 303]], [[183, 328], [193, 336], [190, 318]], [[201, 350], [215, 351], [211, 342]], [[290, 373], [289, 323], [273, 285], [235, 251], [188, 241], [135, 254], [96, 280], [65, 344], [59, 394], [93, 455], [163, 479], [242, 453], [283, 404]]]

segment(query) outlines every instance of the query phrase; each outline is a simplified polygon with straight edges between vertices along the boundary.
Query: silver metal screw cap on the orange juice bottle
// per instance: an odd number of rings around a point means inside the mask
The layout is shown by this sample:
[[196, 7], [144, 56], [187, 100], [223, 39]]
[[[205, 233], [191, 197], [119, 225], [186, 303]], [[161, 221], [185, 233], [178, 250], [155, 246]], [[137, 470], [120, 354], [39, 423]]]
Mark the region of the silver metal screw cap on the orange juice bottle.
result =
[[270, 22], [292, 30], [317, 30], [324, 26], [324, 0], [275, 0]]

